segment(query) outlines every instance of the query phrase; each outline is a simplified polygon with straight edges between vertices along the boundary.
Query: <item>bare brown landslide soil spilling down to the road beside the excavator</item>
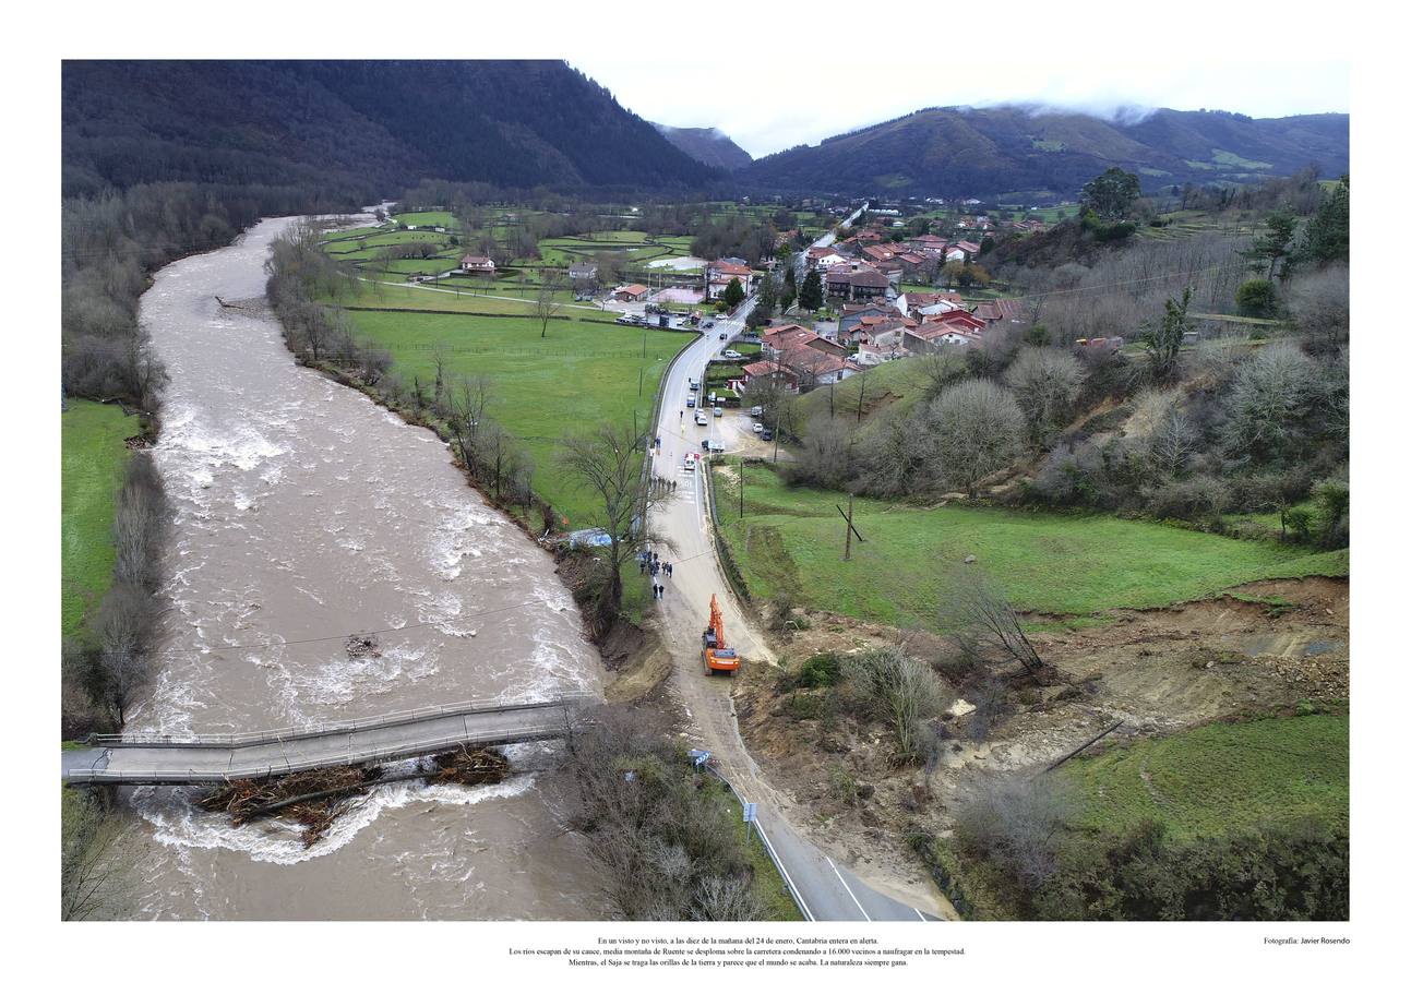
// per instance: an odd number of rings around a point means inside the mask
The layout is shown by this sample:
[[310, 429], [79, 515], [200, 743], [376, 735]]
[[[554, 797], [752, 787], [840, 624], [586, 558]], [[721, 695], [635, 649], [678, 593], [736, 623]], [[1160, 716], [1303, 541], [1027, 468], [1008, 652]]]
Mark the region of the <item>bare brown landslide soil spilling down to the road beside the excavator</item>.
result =
[[[879, 724], [790, 715], [790, 696], [776, 689], [780, 672], [769, 666], [741, 673], [739, 729], [765, 777], [811, 814], [823, 844], [862, 869], [914, 876], [921, 866], [906, 842], [909, 827], [948, 835], [955, 807], [996, 775], [1047, 766], [1113, 722], [1122, 727], [1088, 753], [1139, 735], [1292, 711], [1302, 700], [1348, 698], [1346, 580], [1261, 581], [1233, 593], [1249, 600], [1226, 594], [1116, 610], [1081, 629], [1055, 618], [1051, 631], [1031, 635], [1047, 677], [1007, 686], [983, 739], [969, 735], [969, 704], [954, 704], [952, 738], [930, 776], [893, 766]], [[835, 614], [806, 619], [806, 629], [775, 639], [785, 666], [899, 641], [923, 657], [943, 648], [930, 635]]]

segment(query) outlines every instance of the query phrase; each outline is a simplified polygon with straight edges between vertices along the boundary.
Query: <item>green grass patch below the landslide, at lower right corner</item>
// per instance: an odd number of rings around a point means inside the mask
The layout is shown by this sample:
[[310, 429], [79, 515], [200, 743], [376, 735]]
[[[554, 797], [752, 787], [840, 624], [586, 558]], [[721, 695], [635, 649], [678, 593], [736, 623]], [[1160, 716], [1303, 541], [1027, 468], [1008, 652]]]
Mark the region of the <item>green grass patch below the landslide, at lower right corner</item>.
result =
[[1064, 766], [1074, 825], [1118, 834], [1143, 818], [1191, 839], [1261, 821], [1318, 818], [1346, 828], [1348, 715], [1213, 722]]

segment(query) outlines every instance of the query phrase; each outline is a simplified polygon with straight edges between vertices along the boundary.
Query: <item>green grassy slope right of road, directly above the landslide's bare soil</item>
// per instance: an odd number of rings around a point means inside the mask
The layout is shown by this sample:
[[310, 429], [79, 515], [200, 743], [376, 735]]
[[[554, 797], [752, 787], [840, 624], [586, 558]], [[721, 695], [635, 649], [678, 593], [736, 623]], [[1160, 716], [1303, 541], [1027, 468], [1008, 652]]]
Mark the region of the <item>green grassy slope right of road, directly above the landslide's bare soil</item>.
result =
[[858, 498], [865, 542], [842, 562], [847, 495], [792, 491], [751, 467], [745, 518], [735, 484], [720, 483], [721, 522], [753, 595], [889, 624], [934, 625], [951, 563], [974, 554], [1022, 611], [1092, 614], [1150, 608], [1252, 580], [1345, 576], [1348, 552], [1316, 553], [1228, 539], [1156, 522], [948, 505], [914, 508]]

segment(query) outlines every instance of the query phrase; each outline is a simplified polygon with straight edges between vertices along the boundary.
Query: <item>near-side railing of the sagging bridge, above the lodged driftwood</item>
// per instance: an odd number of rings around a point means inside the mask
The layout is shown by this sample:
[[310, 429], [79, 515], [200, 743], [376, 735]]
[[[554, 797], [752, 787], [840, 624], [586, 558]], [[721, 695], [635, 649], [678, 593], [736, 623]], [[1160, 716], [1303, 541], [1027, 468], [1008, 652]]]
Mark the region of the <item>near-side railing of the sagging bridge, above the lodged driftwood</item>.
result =
[[[196, 770], [195, 768], [144, 768], [134, 770], [114, 770], [100, 768], [76, 768], [69, 770], [65, 780], [71, 783], [93, 784], [212, 784], [227, 780], [246, 780], [253, 777], [272, 777], [299, 770], [317, 770], [323, 768], [351, 766], [358, 763], [378, 763], [384, 760], [405, 760], [413, 756], [423, 756], [447, 751], [461, 745], [497, 745], [522, 744], [535, 739], [552, 739], [563, 736], [570, 727], [539, 724], [533, 727], [509, 727], [474, 734], [446, 734], [430, 739], [402, 741], [385, 746], [368, 748], [356, 753], [319, 753], [306, 759], [282, 760], [279, 765], [265, 766], [233, 766], [217, 770]], [[419, 775], [409, 773], [408, 780], [415, 780]]]

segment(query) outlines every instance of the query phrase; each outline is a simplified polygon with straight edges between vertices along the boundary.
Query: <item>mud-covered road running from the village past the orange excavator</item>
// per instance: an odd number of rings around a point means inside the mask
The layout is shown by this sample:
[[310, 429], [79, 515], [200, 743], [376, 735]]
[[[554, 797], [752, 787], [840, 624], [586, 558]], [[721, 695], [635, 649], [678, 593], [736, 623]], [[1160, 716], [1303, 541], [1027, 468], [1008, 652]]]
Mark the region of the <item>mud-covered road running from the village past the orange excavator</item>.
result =
[[[663, 629], [673, 652], [672, 681], [691, 717], [694, 745], [710, 751], [711, 763], [735, 790], [759, 806], [759, 825], [803, 897], [810, 920], [937, 920], [944, 899], [934, 889], [912, 887], [903, 899], [890, 896], [897, 887], [871, 886], [864, 875], [825, 855], [801, 834], [790, 814], [790, 803], [761, 776], [741, 742], [731, 680], [704, 673], [700, 636], [708, 619], [711, 594], [720, 600], [724, 612], [725, 639], [745, 662], [773, 660], [765, 641], [751, 629], [715, 562], [701, 471], [698, 467], [687, 470], [684, 464], [686, 454], [700, 453], [700, 442], [713, 436], [722, 422], [707, 413], [708, 423], [696, 425], [693, 412], [686, 409], [689, 380], [700, 380], [706, 364], [744, 330], [744, 319], [752, 306], [746, 302], [734, 319], [718, 319], [714, 330], [703, 334], [677, 358], [663, 387], [658, 430], [662, 446], [652, 459], [652, 467], [659, 477], [674, 480], [677, 490], [667, 505], [653, 512], [652, 528], [663, 539], [656, 546], [658, 552], [674, 563], [673, 576], [662, 578], [666, 597], [660, 601]], [[721, 332], [725, 332], [725, 340], [720, 340]]]

